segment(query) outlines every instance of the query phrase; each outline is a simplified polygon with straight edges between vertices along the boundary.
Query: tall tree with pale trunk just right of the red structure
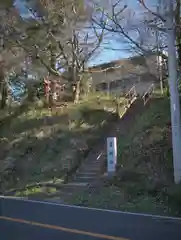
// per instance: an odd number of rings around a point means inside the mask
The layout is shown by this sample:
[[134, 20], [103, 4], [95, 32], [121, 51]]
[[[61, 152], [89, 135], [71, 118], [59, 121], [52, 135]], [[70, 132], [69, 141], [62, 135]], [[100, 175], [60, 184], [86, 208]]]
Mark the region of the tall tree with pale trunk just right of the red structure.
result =
[[[85, 8], [81, 1], [44, 0], [38, 8], [41, 11], [29, 5], [27, 8], [32, 18], [17, 29], [16, 43], [32, 61], [38, 61], [48, 70], [51, 80], [55, 77], [71, 80], [75, 84], [74, 102], [77, 102], [81, 74], [99, 49], [104, 27], [98, 31], [90, 26], [92, 9]], [[82, 31], [84, 28], [88, 31]], [[69, 72], [68, 76], [62, 71]]]

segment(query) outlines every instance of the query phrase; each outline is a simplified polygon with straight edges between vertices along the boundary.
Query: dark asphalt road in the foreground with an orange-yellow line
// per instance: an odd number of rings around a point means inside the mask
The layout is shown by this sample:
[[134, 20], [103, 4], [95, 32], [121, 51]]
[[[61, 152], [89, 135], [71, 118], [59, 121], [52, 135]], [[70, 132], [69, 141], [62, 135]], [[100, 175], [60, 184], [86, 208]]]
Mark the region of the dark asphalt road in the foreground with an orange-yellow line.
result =
[[1, 240], [180, 240], [181, 219], [0, 198]]

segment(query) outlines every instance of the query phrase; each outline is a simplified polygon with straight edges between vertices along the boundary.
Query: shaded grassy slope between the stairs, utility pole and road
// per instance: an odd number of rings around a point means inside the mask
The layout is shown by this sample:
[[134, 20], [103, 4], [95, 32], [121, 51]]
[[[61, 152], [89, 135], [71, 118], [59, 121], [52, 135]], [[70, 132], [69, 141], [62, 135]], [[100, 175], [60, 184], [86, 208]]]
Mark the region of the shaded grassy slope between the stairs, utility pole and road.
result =
[[118, 142], [114, 179], [97, 183], [71, 203], [181, 215], [181, 187], [173, 184], [169, 99], [153, 99]]

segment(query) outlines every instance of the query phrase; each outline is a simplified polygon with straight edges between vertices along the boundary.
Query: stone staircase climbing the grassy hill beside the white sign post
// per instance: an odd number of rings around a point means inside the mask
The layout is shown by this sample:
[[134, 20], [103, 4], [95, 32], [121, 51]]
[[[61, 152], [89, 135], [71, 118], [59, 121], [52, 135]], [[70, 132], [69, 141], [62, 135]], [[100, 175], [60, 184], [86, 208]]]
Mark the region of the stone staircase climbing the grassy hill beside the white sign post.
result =
[[135, 118], [144, 110], [144, 101], [142, 98], [135, 98], [125, 114], [114, 124], [110, 126], [105, 137], [97, 146], [88, 154], [82, 165], [74, 174], [70, 182], [65, 184], [60, 190], [51, 196], [50, 201], [66, 202], [73, 193], [87, 189], [96, 179], [101, 176], [101, 169], [106, 160], [106, 140], [107, 137], [122, 137], [127, 134], [133, 125]]

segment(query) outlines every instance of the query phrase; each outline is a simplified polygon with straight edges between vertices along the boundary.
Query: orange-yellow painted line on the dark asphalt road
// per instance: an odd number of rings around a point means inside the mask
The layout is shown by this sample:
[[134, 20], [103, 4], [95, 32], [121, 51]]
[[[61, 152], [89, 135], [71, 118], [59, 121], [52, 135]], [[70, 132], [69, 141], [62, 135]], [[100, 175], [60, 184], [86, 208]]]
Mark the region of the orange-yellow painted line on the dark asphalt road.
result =
[[127, 238], [122, 238], [122, 237], [114, 237], [114, 236], [109, 236], [109, 235], [104, 235], [104, 234], [99, 234], [99, 233], [82, 231], [82, 230], [78, 230], [78, 229], [65, 228], [65, 227], [61, 227], [61, 226], [54, 226], [54, 225], [49, 225], [49, 224], [44, 224], [44, 223], [39, 223], [39, 222], [32, 222], [32, 221], [18, 219], [18, 218], [10, 218], [10, 217], [5, 217], [5, 216], [0, 216], [0, 219], [6, 220], [6, 221], [11, 221], [11, 222], [24, 223], [24, 224], [42, 227], [42, 228], [54, 229], [54, 230], [63, 231], [63, 232], [69, 232], [69, 233], [73, 233], [73, 234], [87, 235], [87, 236], [91, 236], [91, 237], [95, 237], [95, 238], [102, 238], [102, 239], [109, 239], [109, 240], [129, 240]]

